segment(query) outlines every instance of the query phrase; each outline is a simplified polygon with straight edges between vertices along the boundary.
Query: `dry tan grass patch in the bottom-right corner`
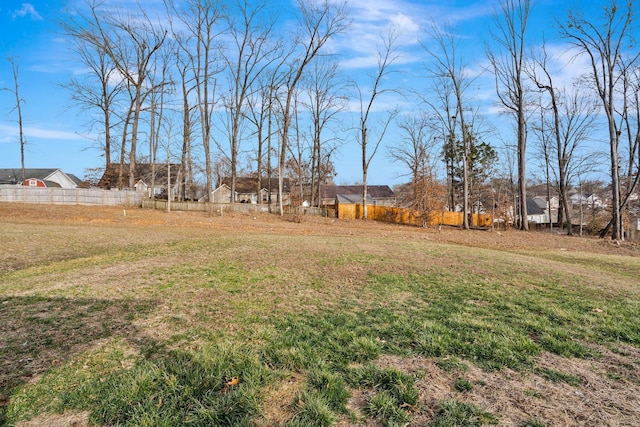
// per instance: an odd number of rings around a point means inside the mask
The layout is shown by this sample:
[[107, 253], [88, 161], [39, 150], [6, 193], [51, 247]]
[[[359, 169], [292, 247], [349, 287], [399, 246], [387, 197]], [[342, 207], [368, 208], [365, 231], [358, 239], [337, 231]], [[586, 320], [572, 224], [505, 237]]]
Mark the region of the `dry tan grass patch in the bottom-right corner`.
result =
[[[383, 356], [376, 364], [420, 377], [416, 386], [422, 406], [415, 412], [412, 426], [428, 425], [440, 403], [449, 400], [477, 405], [495, 414], [501, 426], [522, 426], [534, 419], [545, 425], [576, 427], [635, 425], [640, 414], [637, 369], [626, 371], [635, 375], [635, 379], [611, 379], [608, 375], [611, 372], [611, 353], [602, 347], [599, 350], [605, 356], [598, 360], [564, 358], [550, 353], [538, 358], [537, 366], [575, 375], [582, 382], [580, 386], [551, 381], [533, 372], [510, 369], [487, 372], [465, 361], [467, 368], [463, 371], [443, 370], [438, 367], [436, 359], [420, 357]], [[616, 364], [629, 366], [637, 363], [636, 357], [637, 354], [632, 354], [624, 357], [615, 355], [614, 358]], [[461, 377], [472, 384], [470, 391], [456, 390], [456, 380]], [[363, 401], [356, 404], [362, 405]]]

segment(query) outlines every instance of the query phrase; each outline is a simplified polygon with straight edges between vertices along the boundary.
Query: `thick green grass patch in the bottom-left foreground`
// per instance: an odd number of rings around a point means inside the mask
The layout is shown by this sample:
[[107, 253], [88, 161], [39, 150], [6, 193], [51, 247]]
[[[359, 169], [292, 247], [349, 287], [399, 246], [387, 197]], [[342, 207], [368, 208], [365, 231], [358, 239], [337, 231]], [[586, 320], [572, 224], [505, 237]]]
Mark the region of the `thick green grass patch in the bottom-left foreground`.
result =
[[156, 349], [126, 369], [117, 363], [122, 356], [89, 357], [88, 371], [67, 366], [50, 372], [16, 394], [8, 418], [91, 408], [90, 419], [99, 425], [249, 425], [259, 412], [258, 392], [273, 375], [249, 349], [233, 345], [198, 354]]

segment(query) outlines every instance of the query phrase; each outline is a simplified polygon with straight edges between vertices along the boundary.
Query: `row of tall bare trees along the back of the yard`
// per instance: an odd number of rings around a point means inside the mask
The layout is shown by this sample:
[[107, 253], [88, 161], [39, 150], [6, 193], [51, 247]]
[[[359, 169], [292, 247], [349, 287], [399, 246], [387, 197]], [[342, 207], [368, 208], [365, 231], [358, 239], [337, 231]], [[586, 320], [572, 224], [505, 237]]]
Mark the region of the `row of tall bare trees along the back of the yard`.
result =
[[[598, 8], [593, 22], [579, 9], [557, 17], [545, 37], [571, 48], [569, 55], [530, 42], [529, 0], [501, 3], [491, 48], [475, 58], [461, 54], [455, 28], [434, 24], [420, 40], [428, 90], [409, 93], [391, 78], [402, 55], [400, 28], [379, 35], [369, 81], [340, 69], [329, 46], [349, 34], [348, 2], [299, 0], [295, 25], [283, 26], [267, 0], [164, 0], [153, 16], [140, 3], [114, 9], [87, 0], [63, 22], [87, 70], [68, 88], [100, 135], [105, 168], [120, 165], [121, 188], [135, 184], [137, 163], [164, 159], [180, 164], [181, 199], [195, 197], [199, 179], [210, 194], [221, 177], [230, 177], [233, 195], [237, 177], [249, 175], [256, 191], [277, 177], [280, 203], [288, 177], [318, 205], [340, 148], [355, 141], [365, 217], [369, 167], [386, 145], [389, 160], [406, 170], [405, 205], [425, 214], [458, 208], [469, 228], [468, 215], [490, 199], [492, 209], [513, 206], [516, 226], [528, 230], [527, 165], [538, 159], [569, 234], [568, 191], [594, 169], [589, 143], [604, 113], [611, 218], [603, 236], [621, 239], [640, 177], [639, 53], [633, 1], [602, 6], [579, 6]], [[584, 73], [561, 80], [554, 64], [583, 58]], [[502, 144], [472, 93], [472, 69], [481, 64], [513, 126]], [[412, 97], [415, 108], [386, 106], [382, 97], [392, 93]], [[391, 126], [399, 136], [383, 144]]]

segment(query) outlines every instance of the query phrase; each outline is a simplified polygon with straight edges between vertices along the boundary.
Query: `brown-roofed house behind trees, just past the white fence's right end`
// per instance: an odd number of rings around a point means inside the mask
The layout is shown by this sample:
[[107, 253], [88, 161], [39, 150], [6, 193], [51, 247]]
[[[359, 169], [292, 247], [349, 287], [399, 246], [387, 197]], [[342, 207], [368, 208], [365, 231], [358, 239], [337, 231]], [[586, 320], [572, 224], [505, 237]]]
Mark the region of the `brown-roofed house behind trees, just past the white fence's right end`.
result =
[[[169, 183], [170, 180], [170, 183]], [[167, 197], [167, 188], [177, 194], [181, 180], [181, 167], [178, 164], [140, 163], [136, 165], [134, 190], [143, 191], [148, 197]], [[169, 183], [169, 185], [167, 185]], [[120, 164], [111, 163], [104, 171], [98, 187], [107, 190], [129, 189], [129, 165], [122, 165], [122, 182], [120, 183]]]

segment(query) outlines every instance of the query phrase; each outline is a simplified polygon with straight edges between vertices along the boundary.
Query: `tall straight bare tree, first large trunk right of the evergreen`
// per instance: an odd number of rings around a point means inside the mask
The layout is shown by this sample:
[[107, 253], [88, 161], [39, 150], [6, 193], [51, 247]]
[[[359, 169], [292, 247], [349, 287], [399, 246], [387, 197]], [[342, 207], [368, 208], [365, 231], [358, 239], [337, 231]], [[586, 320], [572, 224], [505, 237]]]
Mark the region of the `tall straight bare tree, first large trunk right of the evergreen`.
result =
[[529, 230], [527, 221], [527, 117], [526, 88], [524, 83], [525, 35], [531, 9], [530, 0], [504, 0], [502, 14], [496, 18], [492, 31], [493, 39], [504, 54], [489, 51], [489, 62], [493, 68], [496, 92], [505, 110], [516, 121], [518, 153], [518, 211], [520, 229]]

